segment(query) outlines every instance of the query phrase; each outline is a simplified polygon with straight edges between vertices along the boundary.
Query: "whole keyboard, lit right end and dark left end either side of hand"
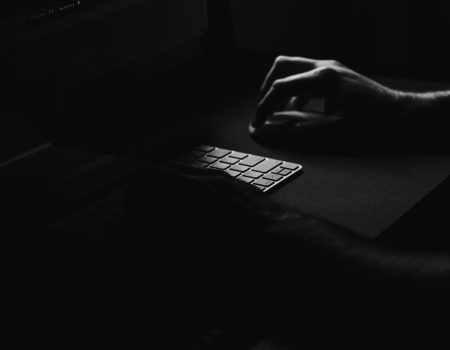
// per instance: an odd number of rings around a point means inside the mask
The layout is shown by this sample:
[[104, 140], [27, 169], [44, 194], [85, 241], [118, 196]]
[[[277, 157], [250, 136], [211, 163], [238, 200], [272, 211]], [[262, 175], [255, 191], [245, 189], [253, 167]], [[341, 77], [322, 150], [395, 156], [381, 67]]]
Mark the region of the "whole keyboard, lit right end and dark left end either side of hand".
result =
[[[275, 190], [300, 174], [303, 169], [299, 164], [211, 146], [195, 147], [171, 163], [224, 171], [263, 192]], [[76, 235], [103, 236], [122, 221], [125, 189], [126, 187], [120, 188], [99, 198], [69, 214], [53, 227], [68, 234], [73, 232]]]

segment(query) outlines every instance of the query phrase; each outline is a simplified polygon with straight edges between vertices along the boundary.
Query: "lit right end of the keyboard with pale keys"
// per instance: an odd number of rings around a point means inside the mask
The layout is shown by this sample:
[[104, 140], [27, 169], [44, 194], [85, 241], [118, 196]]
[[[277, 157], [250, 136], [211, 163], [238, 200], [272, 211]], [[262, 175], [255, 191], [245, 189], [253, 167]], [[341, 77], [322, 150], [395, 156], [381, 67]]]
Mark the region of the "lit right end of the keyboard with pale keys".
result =
[[263, 192], [279, 188], [303, 169], [300, 164], [211, 146], [195, 147], [177, 157], [173, 163], [224, 171]]

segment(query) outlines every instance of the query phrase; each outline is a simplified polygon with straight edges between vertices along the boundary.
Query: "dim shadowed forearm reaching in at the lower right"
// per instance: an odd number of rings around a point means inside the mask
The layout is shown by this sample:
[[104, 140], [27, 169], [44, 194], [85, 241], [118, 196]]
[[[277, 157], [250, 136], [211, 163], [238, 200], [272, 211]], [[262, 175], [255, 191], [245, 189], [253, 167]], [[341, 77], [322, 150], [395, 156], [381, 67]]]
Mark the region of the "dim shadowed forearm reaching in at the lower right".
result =
[[271, 230], [276, 232], [271, 237], [279, 237], [280, 270], [291, 276], [301, 271], [313, 284], [380, 292], [449, 287], [448, 256], [392, 251], [314, 218], [286, 221]]

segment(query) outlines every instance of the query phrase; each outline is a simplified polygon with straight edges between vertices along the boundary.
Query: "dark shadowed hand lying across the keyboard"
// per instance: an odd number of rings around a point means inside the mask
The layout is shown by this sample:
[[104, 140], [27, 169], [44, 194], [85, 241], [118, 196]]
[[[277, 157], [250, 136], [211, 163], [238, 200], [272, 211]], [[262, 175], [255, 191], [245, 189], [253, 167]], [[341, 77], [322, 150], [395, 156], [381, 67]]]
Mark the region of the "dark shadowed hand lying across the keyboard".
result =
[[251, 257], [271, 224], [289, 215], [281, 204], [223, 172], [190, 167], [150, 168], [126, 197], [140, 237], [157, 235], [177, 250], [207, 260]]

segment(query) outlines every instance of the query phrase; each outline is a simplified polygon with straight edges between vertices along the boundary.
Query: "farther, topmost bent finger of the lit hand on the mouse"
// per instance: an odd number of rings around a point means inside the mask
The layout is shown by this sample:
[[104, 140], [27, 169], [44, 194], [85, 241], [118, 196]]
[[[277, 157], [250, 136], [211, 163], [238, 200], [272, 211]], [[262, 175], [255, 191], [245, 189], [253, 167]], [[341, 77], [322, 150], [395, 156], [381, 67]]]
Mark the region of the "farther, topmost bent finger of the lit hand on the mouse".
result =
[[313, 70], [316, 64], [317, 61], [309, 58], [279, 56], [264, 80], [262, 93], [265, 95], [276, 80]]

